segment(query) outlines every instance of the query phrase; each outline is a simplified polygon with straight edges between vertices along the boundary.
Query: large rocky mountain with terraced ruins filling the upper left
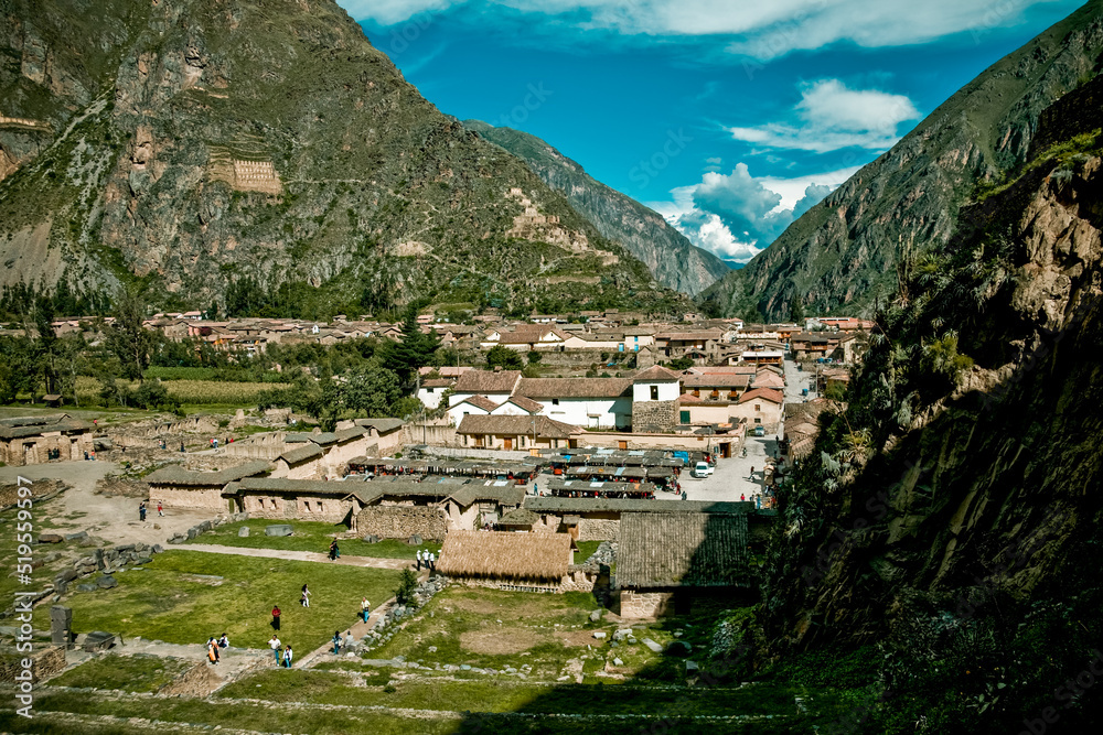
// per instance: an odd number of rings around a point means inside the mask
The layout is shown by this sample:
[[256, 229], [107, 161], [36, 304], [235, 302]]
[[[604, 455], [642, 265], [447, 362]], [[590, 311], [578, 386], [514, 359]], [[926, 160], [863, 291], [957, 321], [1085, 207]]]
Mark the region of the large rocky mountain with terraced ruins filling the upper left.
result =
[[162, 306], [684, 305], [332, 0], [0, 0], [0, 282]]

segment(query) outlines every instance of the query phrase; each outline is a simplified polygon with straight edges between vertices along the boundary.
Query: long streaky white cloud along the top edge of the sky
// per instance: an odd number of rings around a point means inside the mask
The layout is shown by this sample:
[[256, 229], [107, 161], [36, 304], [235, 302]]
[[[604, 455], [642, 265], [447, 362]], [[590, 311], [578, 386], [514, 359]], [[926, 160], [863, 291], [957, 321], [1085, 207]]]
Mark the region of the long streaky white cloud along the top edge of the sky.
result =
[[1057, 0], [339, 0], [354, 18], [392, 24], [470, 4], [561, 15], [579, 28], [627, 35], [726, 35], [732, 53], [758, 60], [836, 41], [880, 47], [1017, 23], [1032, 4]]

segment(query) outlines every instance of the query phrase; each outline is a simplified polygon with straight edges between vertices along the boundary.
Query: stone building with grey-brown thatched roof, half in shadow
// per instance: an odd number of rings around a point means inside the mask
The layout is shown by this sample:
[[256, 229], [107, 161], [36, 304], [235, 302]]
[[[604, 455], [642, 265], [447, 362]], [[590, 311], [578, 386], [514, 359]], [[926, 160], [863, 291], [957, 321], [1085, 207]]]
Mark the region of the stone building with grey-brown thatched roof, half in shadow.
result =
[[687, 613], [705, 588], [746, 587], [747, 515], [624, 514], [617, 550], [622, 618]]

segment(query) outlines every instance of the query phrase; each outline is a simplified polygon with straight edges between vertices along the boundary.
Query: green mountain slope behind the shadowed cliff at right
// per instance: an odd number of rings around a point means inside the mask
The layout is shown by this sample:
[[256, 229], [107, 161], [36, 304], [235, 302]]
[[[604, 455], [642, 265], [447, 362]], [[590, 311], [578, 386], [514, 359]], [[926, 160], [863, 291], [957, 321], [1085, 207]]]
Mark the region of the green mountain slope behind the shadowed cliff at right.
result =
[[870, 314], [896, 291], [898, 264], [945, 244], [978, 180], [1020, 163], [1041, 110], [1097, 68], [1101, 17], [1093, 0], [993, 64], [704, 293], [708, 311], [778, 320], [796, 301], [805, 313]]

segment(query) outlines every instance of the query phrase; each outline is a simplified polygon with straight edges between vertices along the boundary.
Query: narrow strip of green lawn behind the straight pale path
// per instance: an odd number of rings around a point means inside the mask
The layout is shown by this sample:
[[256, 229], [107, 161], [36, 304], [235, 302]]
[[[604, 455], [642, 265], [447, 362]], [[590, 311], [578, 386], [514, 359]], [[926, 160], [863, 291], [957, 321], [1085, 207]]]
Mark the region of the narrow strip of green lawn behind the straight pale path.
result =
[[[291, 526], [293, 536], [265, 536], [265, 527], [276, 522]], [[249, 534], [239, 537], [238, 529], [249, 528]], [[321, 523], [318, 521], [274, 521], [250, 519], [219, 526], [213, 531], [197, 536], [189, 543], [219, 543], [226, 547], [246, 549], [279, 549], [282, 551], [329, 551], [334, 533], [344, 533], [349, 528], [343, 523]], [[418, 549], [440, 553], [440, 544], [426, 541], [420, 547], [411, 547], [399, 539], [385, 539], [378, 543], [364, 543], [360, 539], [343, 539], [338, 542], [344, 556], [375, 556], [382, 559], [409, 559], [414, 561]]]

